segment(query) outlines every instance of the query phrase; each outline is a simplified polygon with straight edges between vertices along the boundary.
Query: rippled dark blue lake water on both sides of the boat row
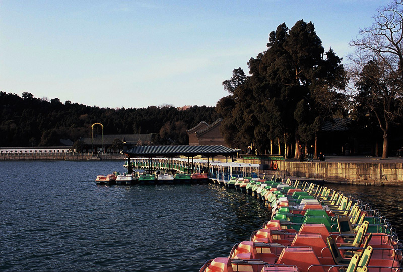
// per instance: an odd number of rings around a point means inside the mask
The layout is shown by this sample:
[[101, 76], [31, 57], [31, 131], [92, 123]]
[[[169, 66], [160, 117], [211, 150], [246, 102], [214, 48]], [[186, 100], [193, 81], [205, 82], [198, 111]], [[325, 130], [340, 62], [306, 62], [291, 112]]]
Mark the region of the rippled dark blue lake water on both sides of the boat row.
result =
[[[95, 184], [122, 163], [0, 162], [0, 271], [198, 271], [270, 217], [255, 198], [215, 184]], [[402, 187], [334, 187], [401, 230]]]

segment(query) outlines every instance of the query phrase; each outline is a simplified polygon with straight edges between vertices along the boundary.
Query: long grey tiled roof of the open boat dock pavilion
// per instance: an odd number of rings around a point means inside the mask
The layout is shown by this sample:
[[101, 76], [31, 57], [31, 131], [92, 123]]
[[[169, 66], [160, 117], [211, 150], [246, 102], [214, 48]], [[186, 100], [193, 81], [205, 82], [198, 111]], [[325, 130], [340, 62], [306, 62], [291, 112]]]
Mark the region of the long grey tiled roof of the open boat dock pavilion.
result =
[[194, 157], [202, 156], [235, 156], [240, 149], [233, 149], [225, 146], [137, 146], [128, 150], [123, 150], [122, 153], [127, 156], [164, 156], [176, 157], [186, 156]]

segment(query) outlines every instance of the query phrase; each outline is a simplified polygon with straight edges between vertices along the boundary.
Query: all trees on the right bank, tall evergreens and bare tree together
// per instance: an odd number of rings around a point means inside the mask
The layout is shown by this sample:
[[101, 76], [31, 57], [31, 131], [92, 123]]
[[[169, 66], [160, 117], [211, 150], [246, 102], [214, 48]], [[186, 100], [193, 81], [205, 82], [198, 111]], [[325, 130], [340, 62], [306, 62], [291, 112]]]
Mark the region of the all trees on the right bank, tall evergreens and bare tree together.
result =
[[[382, 158], [390, 152], [390, 139], [392, 149], [403, 149], [396, 133], [403, 123], [403, 1], [379, 8], [374, 19], [351, 42], [355, 51], [348, 69], [331, 48], [325, 51], [312, 22], [300, 20], [291, 29], [279, 25], [267, 50], [249, 60], [249, 75], [234, 69], [223, 82], [229, 96], [216, 110], [224, 118], [224, 139], [234, 147], [295, 159], [313, 144], [316, 157], [323, 125], [348, 117], [339, 154], [353, 145], [355, 153], [368, 152], [370, 145], [370, 154], [378, 156], [380, 138]], [[366, 143], [359, 143], [363, 139]]]

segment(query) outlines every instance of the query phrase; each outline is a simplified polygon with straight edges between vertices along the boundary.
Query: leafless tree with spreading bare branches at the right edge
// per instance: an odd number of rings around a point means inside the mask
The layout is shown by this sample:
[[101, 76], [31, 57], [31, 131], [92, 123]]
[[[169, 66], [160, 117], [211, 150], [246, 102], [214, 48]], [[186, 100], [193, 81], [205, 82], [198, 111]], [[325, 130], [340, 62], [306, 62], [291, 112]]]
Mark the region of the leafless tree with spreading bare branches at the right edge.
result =
[[391, 124], [402, 113], [403, 3], [392, 0], [377, 10], [371, 27], [361, 29], [350, 45], [350, 78], [360, 110], [368, 111], [383, 132], [382, 158], [387, 158]]

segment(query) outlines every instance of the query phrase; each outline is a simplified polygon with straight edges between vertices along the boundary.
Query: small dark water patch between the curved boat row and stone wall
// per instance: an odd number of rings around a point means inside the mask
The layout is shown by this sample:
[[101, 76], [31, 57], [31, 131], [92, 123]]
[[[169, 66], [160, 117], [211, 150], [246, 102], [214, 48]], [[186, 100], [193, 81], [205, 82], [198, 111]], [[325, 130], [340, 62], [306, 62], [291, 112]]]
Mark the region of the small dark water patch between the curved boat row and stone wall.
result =
[[354, 198], [368, 203], [373, 210], [379, 210], [381, 215], [385, 216], [396, 229], [398, 237], [403, 238], [403, 187], [339, 184], [326, 184], [326, 186], [346, 192]]

